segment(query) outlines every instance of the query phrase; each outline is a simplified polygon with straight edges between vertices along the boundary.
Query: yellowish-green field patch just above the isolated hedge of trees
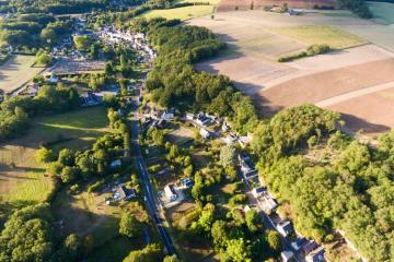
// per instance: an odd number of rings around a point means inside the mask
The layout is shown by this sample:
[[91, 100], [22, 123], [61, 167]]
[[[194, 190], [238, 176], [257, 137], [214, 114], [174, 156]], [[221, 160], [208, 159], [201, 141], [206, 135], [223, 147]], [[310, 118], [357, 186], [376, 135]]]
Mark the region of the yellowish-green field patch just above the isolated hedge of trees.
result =
[[302, 25], [289, 27], [274, 27], [273, 32], [289, 36], [308, 45], [327, 44], [332, 48], [343, 49], [367, 44], [362, 38], [326, 25]]

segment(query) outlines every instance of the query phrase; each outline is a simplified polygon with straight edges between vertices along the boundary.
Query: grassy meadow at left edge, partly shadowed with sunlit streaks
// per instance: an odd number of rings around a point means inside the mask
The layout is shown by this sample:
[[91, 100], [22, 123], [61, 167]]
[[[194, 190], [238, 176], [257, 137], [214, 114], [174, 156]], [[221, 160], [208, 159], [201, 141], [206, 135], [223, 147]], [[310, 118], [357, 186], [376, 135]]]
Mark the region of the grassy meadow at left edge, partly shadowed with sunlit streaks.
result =
[[45, 200], [53, 180], [45, 176], [45, 166], [35, 162], [39, 145], [51, 143], [55, 151], [82, 148], [107, 132], [106, 126], [103, 107], [34, 119], [24, 136], [0, 147], [0, 202], [24, 205]]

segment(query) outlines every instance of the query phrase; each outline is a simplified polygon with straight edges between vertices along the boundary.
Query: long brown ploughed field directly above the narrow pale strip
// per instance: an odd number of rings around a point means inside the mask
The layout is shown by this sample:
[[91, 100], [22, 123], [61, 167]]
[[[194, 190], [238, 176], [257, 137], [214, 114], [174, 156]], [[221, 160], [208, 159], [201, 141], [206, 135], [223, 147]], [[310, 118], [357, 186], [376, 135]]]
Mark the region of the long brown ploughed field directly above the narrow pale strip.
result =
[[[373, 72], [373, 73], [371, 73]], [[394, 81], [394, 59], [346, 67], [296, 78], [263, 90], [256, 104], [266, 111], [283, 107], [317, 103], [351, 91]]]

